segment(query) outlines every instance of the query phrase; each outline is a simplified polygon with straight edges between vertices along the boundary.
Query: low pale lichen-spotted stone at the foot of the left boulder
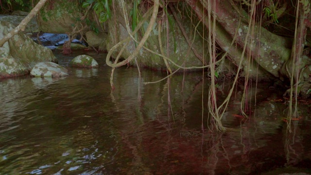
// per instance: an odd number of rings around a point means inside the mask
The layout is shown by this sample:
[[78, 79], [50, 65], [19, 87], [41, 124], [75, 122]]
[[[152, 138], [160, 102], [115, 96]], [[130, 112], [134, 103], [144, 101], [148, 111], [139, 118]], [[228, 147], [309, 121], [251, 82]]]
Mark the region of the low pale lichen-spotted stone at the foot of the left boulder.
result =
[[35, 77], [62, 77], [67, 76], [68, 70], [53, 62], [42, 62], [35, 65], [30, 72]]

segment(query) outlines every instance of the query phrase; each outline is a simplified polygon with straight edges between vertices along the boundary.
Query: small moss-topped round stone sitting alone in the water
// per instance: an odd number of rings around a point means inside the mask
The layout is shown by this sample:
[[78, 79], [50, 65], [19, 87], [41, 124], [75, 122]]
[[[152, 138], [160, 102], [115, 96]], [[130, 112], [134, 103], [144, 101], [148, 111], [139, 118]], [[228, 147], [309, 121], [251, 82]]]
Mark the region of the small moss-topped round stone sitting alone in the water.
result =
[[83, 67], [83, 68], [97, 68], [97, 61], [88, 55], [79, 55], [73, 58], [70, 63], [73, 67]]

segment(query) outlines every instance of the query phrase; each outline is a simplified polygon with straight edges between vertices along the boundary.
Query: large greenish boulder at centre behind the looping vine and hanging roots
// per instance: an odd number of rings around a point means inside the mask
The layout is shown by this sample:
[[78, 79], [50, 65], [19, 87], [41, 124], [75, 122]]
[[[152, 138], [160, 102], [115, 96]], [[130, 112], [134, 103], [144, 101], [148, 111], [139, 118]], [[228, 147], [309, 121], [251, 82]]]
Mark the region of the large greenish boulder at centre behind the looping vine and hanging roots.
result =
[[[126, 7], [127, 9], [127, 16], [131, 17], [130, 12], [132, 9], [132, 3], [130, 1], [127, 1]], [[178, 5], [182, 5], [182, 3], [178, 3]], [[186, 7], [186, 8], [185, 8]], [[179, 8], [179, 6], [178, 6]], [[181, 14], [191, 14], [191, 11], [188, 9], [187, 5], [184, 7], [180, 7], [180, 13]], [[115, 10], [115, 12], [111, 12], [111, 14], [116, 15], [116, 17], [111, 17], [108, 21], [108, 27], [109, 32], [108, 38], [107, 38], [107, 51], [109, 51], [113, 46], [115, 46], [120, 41], [126, 39], [129, 37], [128, 32], [125, 28], [126, 22], [123, 17], [123, 12], [121, 8], [121, 2], [115, 1], [115, 6], [112, 10]], [[145, 12], [146, 9], [139, 9], [138, 13]], [[183, 18], [180, 17], [180, 15], [177, 15], [178, 20], [181, 22], [183, 29], [186, 33], [186, 35], [190, 38], [190, 42], [192, 43], [192, 47], [198, 52], [198, 54], [205, 56], [206, 60], [205, 62], [208, 63], [208, 55], [206, 54], [208, 49], [208, 44], [205, 39], [202, 38], [202, 31], [203, 25], [202, 22], [200, 22], [197, 18], [193, 16], [184, 15]], [[184, 67], [191, 67], [191, 66], [202, 66], [203, 63], [195, 56], [193, 51], [190, 49], [190, 46], [186, 42], [186, 39], [184, 35], [182, 34], [182, 31], [179, 29], [177, 22], [174, 20], [174, 17], [172, 14], [169, 14], [170, 18], [170, 24], [169, 29], [166, 28], [167, 25], [158, 24], [157, 22], [153, 26], [152, 32], [149, 35], [149, 38], [147, 39], [144, 46], [151, 49], [152, 51], [155, 51], [156, 53], [161, 53], [160, 51], [160, 44], [158, 35], [161, 34], [161, 42], [162, 42], [162, 48], [163, 53], [166, 53], [169, 55], [169, 58], [175, 62], [176, 64]], [[157, 19], [158, 21], [160, 19]], [[200, 23], [196, 27], [196, 23], [193, 23], [193, 21], [196, 21], [197, 23]], [[141, 36], [144, 35], [144, 32], [147, 30], [147, 27], [149, 25], [149, 19], [146, 20], [143, 24], [142, 29], [138, 32], [138, 40], [141, 39]], [[158, 31], [158, 25], [162, 25], [161, 31]], [[167, 38], [167, 30], [169, 30], [168, 38]], [[132, 31], [132, 29], [130, 29]], [[124, 51], [121, 53], [121, 48], [123, 45], [126, 45]], [[166, 49], [166, 46], [169, 45], [169, 49]], [[136, 45], [133, 40], [131, 40], [130, 43], [124, 43], [121, 46], [119, 46], [116, 50], [114, 50], [112, 57], [116, 58], [116, 56], [121, 53], [121, 57], [127, 58], [130, 56], [136, 49]], [[146, 49], [141, 49], [136, 56], [136, 58], [139, 60], [139, 65], [142, 67], [148, 67], [155, 70], [166, 70], [166, 64], [164, 62], [164, 59], [161, 58], [158, 55], [155, 55], [154, 53], [150, 53]], [[169, 62], [169, 61], [168, 61]], [[131, 62], [132, 65], [136, 65], [134, 60]], [[172, 70], [177, 70], [178, 67], [174, 66], [172, 63], [169, 62], [169, 65]]]

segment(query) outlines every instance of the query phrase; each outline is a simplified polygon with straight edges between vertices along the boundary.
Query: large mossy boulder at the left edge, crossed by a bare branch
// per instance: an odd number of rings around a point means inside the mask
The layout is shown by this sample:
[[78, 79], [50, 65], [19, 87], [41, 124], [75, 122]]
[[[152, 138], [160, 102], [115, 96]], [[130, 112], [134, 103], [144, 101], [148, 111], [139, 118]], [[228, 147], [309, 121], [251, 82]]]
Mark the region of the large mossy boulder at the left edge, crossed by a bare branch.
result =
[[[0, 39], [14, 26], [0, 20]], [[57, 62], [52, 51], [24, 34], [14, 35], [0, 48], [0, 78], [28, 74], [38, 62]]]

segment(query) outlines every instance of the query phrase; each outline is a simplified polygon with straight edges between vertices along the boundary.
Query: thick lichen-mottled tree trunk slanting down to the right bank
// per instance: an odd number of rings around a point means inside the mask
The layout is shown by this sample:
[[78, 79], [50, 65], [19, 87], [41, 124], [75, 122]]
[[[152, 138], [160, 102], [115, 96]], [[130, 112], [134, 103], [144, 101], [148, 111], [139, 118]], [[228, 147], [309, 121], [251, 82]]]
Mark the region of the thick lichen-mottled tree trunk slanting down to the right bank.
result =
[[[186, 0], [201, 19], [207, 19], [207, 1]], [[258, 21], [250, 25], [250, 18], [254, 17], [230, 0], [211, 1], [215, 1], [211, 3], [211, 10], [217, 20], [213, 24], [216, 25], [216, 41], [222, 50], [228, 51], [228, 58], [233, 63], [238, 65], [242, 59], [242, 71], [259, 77], [268, 73], [282, 81], [290, 80], [293, 75], [295, 81], [309, 82], [309, 76], [300, 75], [305, 67], [311, 65], [310, 57], [302, 52], [306, 43], [307, 27], [310, 28], [311, 23], [310, 0], [299, 0], [295, 42], [291, 38], [271, 33], [261, 27]], [[211, 29], [207, 21], [204, 23]], [[230, 44], [232, 40], [234, 45]], [[244, 47], [245, 54], [242, 53]]]

